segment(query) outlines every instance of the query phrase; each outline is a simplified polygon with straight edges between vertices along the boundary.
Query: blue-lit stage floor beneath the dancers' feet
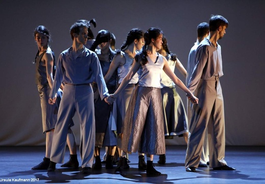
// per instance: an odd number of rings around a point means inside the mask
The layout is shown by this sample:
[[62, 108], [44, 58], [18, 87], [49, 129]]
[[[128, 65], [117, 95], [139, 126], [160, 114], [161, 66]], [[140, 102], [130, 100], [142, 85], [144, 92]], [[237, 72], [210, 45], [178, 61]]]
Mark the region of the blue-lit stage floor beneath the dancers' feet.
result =
[[[122, 175], [105, 170], [104, 164], [101, 171], [84, 175], [79, 172], [81, 167], [73, 170], [61, 168], [61, 164], [56, 165], [55, 172], [31, 170], [42, 161], [45, 147], [0, 147], [0, 183], [265, 183], [265, 147], [226, 147], [226, 162], [236, 171], [213, 171], [208, 167], [197, 169], [197, 173], [185, 171], [185, 151], [185, 146], [167, 146], [165, 165], [157, 164], [155, 155], [155, 169], [162, 173], [159, 176], [138, 171], [137, 153], [129, 155], [130, 169]], [[67, 150], [66, 162], [68, 157]]]

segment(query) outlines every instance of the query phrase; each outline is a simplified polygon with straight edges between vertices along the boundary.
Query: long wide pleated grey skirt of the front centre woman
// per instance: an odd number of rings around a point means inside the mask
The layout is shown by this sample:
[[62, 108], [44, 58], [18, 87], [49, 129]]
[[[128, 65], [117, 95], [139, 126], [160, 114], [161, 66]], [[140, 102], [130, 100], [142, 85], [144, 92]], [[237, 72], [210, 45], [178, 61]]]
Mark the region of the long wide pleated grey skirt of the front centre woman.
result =
[[165, 154], [160, 88], [135, 87], [125, 116], [122, 150]]

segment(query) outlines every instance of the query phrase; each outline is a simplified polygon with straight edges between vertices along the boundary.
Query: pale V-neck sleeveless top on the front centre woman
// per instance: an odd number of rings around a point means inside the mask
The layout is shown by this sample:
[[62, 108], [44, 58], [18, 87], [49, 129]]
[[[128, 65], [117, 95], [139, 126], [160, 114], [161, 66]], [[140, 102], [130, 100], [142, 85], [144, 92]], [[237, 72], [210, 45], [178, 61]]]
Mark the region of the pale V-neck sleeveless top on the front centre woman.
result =
[[147, 60], [148, 62], [141, 65], [138, 70], [139, 86], [162, 88], [160, 80], [164, 66], [163, 56], [158, 54], [156, 62], [153, 62], [149, 56], [147, 56]]

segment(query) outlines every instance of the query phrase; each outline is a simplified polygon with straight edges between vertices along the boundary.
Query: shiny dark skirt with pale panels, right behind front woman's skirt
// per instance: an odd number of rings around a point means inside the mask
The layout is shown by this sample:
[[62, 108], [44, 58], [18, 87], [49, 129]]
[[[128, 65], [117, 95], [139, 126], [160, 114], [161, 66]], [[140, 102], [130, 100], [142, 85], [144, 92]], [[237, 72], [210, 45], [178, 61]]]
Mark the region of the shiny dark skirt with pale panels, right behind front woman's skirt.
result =
[[175, 86], [161, 89], [163, 99], [165, 135], [182, 135], [188, 132], [187, 115]]

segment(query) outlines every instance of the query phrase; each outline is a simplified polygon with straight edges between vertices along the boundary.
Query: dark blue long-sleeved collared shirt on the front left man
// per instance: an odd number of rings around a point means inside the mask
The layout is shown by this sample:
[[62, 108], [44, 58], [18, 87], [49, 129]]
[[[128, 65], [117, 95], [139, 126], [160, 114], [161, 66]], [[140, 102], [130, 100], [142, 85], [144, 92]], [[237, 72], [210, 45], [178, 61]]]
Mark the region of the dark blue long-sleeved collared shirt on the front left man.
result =
[[55, 97], [62, 82], [82, 85], [93, 81], [98, 83], [101, 99], [109, 95], [97, 54], [83, 46], [82, 53], [77, 55], [70, 47], [59, 56], [50, 98]]

